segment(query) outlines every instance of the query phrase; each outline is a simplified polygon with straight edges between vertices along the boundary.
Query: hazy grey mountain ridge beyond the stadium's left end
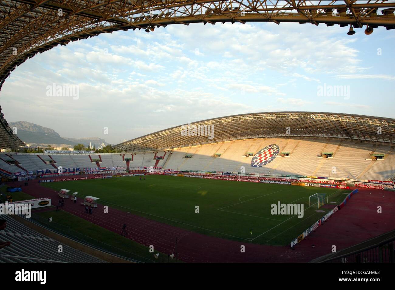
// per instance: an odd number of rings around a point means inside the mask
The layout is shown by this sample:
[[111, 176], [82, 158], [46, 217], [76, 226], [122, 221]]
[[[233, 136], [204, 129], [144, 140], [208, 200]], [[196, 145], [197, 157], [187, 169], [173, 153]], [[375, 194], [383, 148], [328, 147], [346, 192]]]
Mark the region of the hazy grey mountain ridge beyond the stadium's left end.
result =
[[76, 144], [84, 144], [86, 147], [89, 142], [95, 144], [98, 148], [102, 143], [105, 145], [109, 144], [105, 142], [104, 139], [98, 137], [89, 138], [66, 138], [60, 137], [60, 135], [55, 132], [55, 130], [47, 127], [43, 127], [30, 122], [11, 122], [8, 123], [9, 127], [17, 128], [17, 136], [30, 146], [47, 146], [52, 145], [53, 147], [69, 147], [72, 148]]

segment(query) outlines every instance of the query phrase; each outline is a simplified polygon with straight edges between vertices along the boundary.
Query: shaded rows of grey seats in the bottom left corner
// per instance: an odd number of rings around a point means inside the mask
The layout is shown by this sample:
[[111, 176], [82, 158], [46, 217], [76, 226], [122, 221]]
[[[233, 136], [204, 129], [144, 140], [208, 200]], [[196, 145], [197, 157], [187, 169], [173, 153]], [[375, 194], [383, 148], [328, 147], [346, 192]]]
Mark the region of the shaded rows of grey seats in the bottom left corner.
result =
[[[104, 263], [103, 260], [47, 238], [7, 215], [1, 218], [7, 221], [6, 229], [0, 231], [1, 239], [11, 242], [11, 245], [0, 250], [0, 263]], [[59, 245], [63, 247], [62, 253], [58, 253]]]

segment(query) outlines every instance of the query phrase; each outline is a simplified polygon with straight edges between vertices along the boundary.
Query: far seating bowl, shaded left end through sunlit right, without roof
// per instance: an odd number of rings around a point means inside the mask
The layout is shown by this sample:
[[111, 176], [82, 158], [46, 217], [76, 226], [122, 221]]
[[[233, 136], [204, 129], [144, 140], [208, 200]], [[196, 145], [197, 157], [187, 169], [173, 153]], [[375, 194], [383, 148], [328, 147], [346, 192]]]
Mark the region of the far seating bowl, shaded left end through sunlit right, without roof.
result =
[[[287, 157], [280, 154], [264, 167], [252, 167], [253, 156], [265, 146], [276, 144], [280, 153], [290, 153]], [[324, 158], [323, 152], [333, 155]], [[383, 154], [383, 159], [371, 160], [371, 154]], [[165, 152], [150, 151], [138, 152], [133, 155], [130, 167], [158, 167], [174, 170], [207, 170], [240, 172], [245, 167], [247, 173], [270, 175], [303, 175], [303, 176], [333, 176], [339, 178], [352, 178], [362, 180], [393, 180], [395, 177], [395, 152], [393, 146], [374, 144], [358, 140], [333, 140], [322, 138], [255, 138], [246, 140], [233, 140], [214, 144], [203, 144], [173, 149], [166, 153], [166, 160], [155, 160], [154, 156], [164, 156]], [[191, 155], [192, 158], [185, 158]], [[8, 157], [10, 156], [10, 157]], [[49, 159], [48, 155], [40, 155]], [[100, 167], [126, 167], [122, 161], [122, 154], [57, 154], [52, 155], [56, 160], [56, 167], [63, 168], [95, 168], [92, 159], [100, 159]], [[38, 169], [53, 169], [50, 164], [43, 163], [36, 154], [18, 153], [0, 154], [0, 168], [11, 172], [21, 172], [21, 168], [8, 164], [6, 161], [13, 158], [20, 162], [20, 166], [36, 173]], [[125, 153], [124, 158], [132, 158], [132, 154]], [[334, 169], [335, 168], [335, 169]]]

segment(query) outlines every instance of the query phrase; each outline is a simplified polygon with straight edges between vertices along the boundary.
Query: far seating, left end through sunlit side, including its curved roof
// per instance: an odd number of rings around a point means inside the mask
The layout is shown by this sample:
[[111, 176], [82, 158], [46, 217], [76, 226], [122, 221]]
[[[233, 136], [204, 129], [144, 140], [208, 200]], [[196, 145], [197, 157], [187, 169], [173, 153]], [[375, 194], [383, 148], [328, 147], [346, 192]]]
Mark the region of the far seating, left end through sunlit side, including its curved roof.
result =
[[[11, 173], [24, 170], [36, 173], [38, 169], [58, 166], [227, 172], [240, 172], [244, 167], [246, 173], [255, 174], [383, 181], [395, 178], [393, 119], [320, 112], [271, 112], [214, 118], [193, 125], [215, 125], [214, 138], [184, 136], [179, 126], [115, 146], [129, 152], [51, 154], [54, 165], [43, 162], [51, 159], [45, 154], [3, 153], [0, 168]], [[287, 125], [293, 133], [284, 133]], [[382, 129], [381, 134], [377, 133], [377, 126]], [[253, 167], [254, 155], [270, 145], [276, 145], [278, 155], [265, 166]], [[158, 160], [158, 156], [164, 160]], [[9, 164], [13, 160], [19, 165]]]

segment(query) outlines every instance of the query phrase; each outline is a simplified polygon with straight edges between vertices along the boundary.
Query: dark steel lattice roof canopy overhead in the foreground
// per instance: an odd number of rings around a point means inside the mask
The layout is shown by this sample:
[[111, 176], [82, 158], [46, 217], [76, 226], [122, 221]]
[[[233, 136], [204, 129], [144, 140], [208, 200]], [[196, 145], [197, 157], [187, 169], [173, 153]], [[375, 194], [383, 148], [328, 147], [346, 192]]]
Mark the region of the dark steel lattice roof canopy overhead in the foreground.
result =
[[393, 29], [394, 8], [394, 0], [0, 0], [0, 88], [38, 52], [101, 33], [248, 21]]

